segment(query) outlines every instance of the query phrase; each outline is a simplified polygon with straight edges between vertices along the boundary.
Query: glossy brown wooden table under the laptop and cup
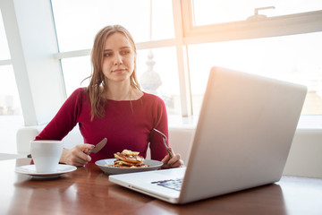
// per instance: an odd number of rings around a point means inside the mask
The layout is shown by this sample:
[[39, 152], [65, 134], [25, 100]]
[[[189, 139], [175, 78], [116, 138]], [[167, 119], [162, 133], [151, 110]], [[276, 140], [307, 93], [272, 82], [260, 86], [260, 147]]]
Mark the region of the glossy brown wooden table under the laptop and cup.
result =
[[30, 159], [0, 161], [0, 214], [322, 214], [322, 179], [284, 176], [273, 185], [172, 205], [114, 185], [95, 164], [39, 180], [14, 172]]

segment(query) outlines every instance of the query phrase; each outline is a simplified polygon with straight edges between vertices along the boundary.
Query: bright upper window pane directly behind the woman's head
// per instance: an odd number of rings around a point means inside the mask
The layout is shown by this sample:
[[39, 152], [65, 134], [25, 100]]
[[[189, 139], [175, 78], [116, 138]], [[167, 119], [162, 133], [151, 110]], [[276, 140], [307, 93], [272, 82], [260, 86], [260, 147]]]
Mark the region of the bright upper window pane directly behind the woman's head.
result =
[[61, 52], [91, 48], [97, 31], [111, 24], [123, 25], [136, 43], [174, 38], [171, 0], [52, 0], [52, 5]]

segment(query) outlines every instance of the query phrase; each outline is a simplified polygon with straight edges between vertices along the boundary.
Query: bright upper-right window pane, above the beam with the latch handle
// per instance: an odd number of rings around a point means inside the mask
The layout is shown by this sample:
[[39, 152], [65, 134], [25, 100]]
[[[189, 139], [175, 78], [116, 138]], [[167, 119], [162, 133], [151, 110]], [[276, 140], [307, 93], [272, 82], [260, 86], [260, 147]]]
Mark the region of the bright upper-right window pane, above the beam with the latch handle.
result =
[[255, 10], [258, 17], [275, 17], [322, 10], [322, 4], [320, 0], [193, 0], [192, 20], [195, 26], [246, 21]]

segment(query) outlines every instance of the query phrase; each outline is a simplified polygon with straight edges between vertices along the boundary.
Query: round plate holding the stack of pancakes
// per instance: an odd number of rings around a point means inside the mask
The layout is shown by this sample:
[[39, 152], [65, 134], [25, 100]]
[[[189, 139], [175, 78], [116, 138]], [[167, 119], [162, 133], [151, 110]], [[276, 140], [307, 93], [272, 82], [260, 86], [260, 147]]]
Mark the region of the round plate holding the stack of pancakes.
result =
[[155, 159], [144, 159], [143, 163], [149, 165], [148, 168], [114, 168], [106, 166], [113, 165], [114, 160], [115, 159], [100, 159], [97, 160], [95, 164], [108, 175], [157, 170], [163, 165], [161, 161]]

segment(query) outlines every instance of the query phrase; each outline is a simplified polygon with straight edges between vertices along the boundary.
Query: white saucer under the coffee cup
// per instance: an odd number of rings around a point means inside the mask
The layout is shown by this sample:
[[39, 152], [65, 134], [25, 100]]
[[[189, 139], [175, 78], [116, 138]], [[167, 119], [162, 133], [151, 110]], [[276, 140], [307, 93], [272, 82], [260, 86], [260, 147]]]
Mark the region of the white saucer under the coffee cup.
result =
[[26, 166], [21, 166], [21, 167], [15, 168], [15, 172], [30, 175], [30, 176], [47, 177], [47, 176], [59, 176], [64, 173], [72, 172], [76, 169], [77, 169], [76, 167], [71, 166], [71, 165], [59, 164], [56, 172], [38, 173], [38, 172], [36, 172], [35, 165], [26, 165]]

